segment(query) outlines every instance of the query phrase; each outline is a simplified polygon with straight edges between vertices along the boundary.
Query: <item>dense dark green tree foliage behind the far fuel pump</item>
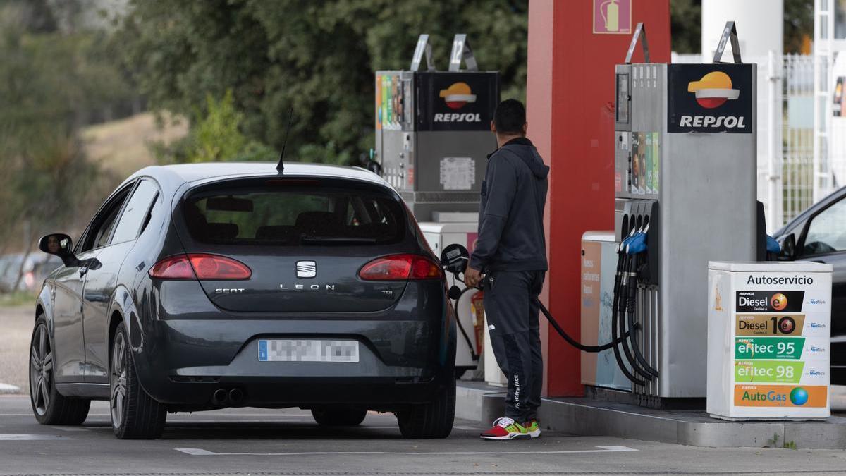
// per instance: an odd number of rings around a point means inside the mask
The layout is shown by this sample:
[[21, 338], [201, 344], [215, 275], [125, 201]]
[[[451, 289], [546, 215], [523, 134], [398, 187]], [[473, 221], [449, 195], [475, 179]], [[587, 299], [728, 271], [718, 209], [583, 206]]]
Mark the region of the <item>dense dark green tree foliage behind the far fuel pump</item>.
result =
[[372, 147], [374, 72], [408, 68], [429, 33], [446, 69], [467, 33], [503, 97], [525, 97], [526, 0], [135, 1], [116, 41], [152, 107], [195, 116], [233, 91], [244, 136], [287, 157], [349, 163]]

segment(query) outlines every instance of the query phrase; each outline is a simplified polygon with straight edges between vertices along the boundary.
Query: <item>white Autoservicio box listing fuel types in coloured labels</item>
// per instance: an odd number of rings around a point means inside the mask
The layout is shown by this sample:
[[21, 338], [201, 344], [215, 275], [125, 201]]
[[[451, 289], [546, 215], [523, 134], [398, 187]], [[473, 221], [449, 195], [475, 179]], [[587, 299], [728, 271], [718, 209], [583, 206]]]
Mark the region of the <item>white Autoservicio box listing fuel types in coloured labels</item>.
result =
[[830, 264], [708, 263], [708, 413], [829, 417], [831, 302]]

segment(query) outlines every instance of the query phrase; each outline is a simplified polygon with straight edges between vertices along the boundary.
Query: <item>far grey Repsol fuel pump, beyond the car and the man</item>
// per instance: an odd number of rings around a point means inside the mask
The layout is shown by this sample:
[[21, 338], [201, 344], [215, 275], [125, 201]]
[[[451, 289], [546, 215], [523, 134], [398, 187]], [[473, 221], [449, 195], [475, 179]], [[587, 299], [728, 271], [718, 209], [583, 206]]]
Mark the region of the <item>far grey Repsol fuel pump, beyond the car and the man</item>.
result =
[[486, 155], [497, 147], [491, 120], [498, 103], [499, 72], [479, 70], [464, 34], [453, 39], [446, 71], [435, 67], [428, 35], [420, 35], [408, 70], [376, 71], [372, 158], [417, 221], [478, 213]]

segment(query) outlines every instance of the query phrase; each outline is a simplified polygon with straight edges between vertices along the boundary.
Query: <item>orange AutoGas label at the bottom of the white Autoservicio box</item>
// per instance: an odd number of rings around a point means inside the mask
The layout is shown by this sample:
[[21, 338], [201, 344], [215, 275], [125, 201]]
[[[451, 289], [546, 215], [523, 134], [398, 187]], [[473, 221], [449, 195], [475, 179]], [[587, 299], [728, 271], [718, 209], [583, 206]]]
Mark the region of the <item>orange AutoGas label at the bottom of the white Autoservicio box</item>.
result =
[[735, 407], [826, 407], [827, 385], [734, 385]]

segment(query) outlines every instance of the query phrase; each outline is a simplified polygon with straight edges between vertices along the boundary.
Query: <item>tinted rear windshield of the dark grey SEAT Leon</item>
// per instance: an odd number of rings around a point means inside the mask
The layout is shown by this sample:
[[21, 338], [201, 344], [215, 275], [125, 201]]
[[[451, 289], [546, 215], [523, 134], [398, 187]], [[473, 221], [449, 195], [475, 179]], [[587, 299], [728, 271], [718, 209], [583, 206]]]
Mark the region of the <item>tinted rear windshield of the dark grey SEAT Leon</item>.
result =
[[223, 245], [389, 244], [405, 235], [404, 208], [387, 193], [304, 185], [203, 187], [186, 197], [196, 241]]

